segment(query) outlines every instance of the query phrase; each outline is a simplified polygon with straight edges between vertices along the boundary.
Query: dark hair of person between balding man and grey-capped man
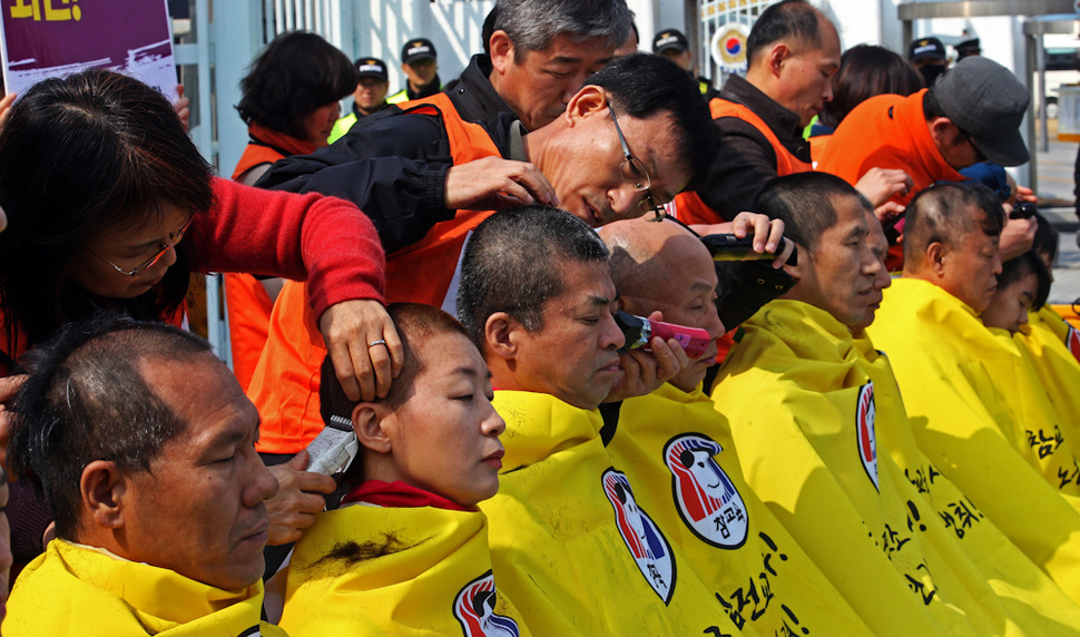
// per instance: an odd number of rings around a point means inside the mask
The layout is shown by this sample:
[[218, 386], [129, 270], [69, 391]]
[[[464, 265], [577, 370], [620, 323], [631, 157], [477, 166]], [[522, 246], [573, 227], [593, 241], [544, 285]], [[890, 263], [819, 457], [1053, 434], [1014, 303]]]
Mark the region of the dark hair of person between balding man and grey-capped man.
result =
[[875, 45], [844, 51], [833, 76], [833, 99], [825, 102], [821, 121], [836, 128], [847, 114], [867, 99], [885, 94], [904, 97], [923, 88], [923, 78], [906, 59]]

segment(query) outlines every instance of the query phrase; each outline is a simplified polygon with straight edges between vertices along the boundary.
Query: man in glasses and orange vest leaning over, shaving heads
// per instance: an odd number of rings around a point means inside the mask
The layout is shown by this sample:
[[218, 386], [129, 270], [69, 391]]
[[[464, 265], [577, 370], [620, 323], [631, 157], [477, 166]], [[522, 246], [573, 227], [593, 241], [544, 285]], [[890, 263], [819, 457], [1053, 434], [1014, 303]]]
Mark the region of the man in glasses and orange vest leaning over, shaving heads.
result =
[[[372, 121], [335, 148], [288, 158], [268, 175], [285, 189], [355, 202], [390, 254], [390, 302], [453, 312], [462, 249], [495, 210], [557, 205], [593, 227], [655, 215], [708, 165], [715, 135], [693, 79], [669, 60], [635, 55], [592, 76], [562, 116], [532, 133], [509, 115], [482, 128], [422, 109]], [[401, 186], [414, 163], [431, 170], [429, 192], [416, 196]], [[740, 223], [749, 229], [745, 217]], [[767, 219], [754, 225], [764, 247]], [[775, 249], [779, 239], [770, 239]], [[322, 429], [317, 405], [312, 410], [317, 381], [311, 379], [318, 378], [325, 352], [297, 305], [304, 298], [303, 285], [282, 291], [248, 391], [264, 415], [262, 440], [293, 452]], [[681, 352], [657, 354], [671, 373], [679, 366]], [[295, 373], [306, 369], [312, 373]], [[292, 380], [297, 378], [303, 381]]]

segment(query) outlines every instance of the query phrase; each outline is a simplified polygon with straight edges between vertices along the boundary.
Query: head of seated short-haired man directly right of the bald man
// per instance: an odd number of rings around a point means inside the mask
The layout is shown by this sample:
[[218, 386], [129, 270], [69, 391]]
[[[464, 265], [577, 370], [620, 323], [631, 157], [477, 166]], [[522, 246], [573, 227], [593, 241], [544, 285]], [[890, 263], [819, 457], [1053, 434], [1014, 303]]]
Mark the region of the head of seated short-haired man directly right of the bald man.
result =
[[880, 247], [868, 237], [873, 207], [855, 188], [825, 173], [780, 177], [756, 209], [783, 219], [798, 246], [798, 264], [784, 270], [798, 282], [784, 296], [825, 310], [848, 327], [868, 324], [881, 304]]

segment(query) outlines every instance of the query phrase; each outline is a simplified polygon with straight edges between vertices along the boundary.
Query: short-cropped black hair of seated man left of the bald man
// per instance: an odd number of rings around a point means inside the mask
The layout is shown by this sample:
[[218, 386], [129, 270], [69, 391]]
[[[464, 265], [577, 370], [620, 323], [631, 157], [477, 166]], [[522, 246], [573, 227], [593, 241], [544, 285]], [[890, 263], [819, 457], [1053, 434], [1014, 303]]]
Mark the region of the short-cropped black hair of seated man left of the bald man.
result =
[[564, 291], [563, 264], [607, 258], [596, 231], [566, 210], [534, 204], [495, 213], [465, 245], [458, 318], [481, 352], [484, 324], [495, 312], [526, 330], [542, 330], [543, 304]]

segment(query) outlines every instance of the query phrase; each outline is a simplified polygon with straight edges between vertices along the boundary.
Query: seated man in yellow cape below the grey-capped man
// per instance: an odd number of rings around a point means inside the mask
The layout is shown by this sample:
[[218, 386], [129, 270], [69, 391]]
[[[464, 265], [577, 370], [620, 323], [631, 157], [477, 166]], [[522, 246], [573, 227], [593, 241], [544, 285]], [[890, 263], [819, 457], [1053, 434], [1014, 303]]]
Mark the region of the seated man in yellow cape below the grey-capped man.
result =
[[1015, 343], [979, 320], [1001, 272], [1003, 224], [983, 186], [921, 193], [907, 208], [904, 276], [867, 332], [892, 361], [920, 449], [1077, 598], [1077, 441]]

